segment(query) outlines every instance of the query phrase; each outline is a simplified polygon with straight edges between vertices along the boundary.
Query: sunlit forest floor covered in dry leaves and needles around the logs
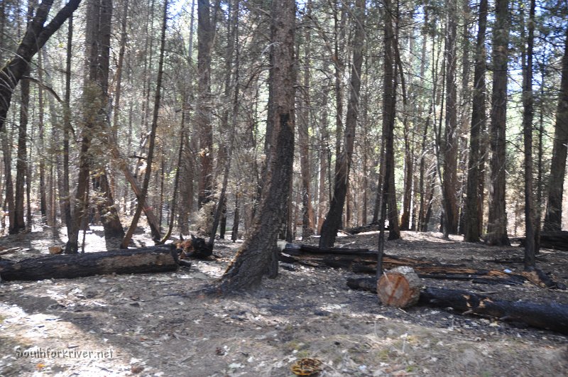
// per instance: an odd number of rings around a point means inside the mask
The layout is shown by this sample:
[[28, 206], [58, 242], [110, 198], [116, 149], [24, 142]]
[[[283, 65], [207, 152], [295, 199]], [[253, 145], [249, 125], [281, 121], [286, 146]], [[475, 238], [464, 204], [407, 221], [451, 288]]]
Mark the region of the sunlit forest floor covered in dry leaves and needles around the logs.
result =
[[[92, 229], [87, 252], [113, 248], [102, 229]], [[4, 236], [0, 246], [22, 249], [0, 258], [48, 253], [64, 244], [63, 234]], [[520, 257], [522, 248], [460, 239], [403, 232], [403, 240], [388, 241], [386, 253], [523, 268], [491, 262]], [[342, 236], [336, 246], [375, 249], [376, 240], [376, 232]], [[152, 242], [138, 234], [136, 244]], [[222, 275], [239, 245], [219, 240], [217, 259], [193, 261], [175, 273], [0, 283], [0, 376], [293, 376], [290, 366], [303, 357], [322, 361], [320, 376], [568, 376], [562, 334], [430, 307], [386, 307], [373, 293], [347, 288], [346, 278], [355, 276], [347, 271], [295, 265], [245, 295], [192, 295]], [[543, 250], [540, 258], [542, 270], [568, 284], [567, 252]], [[423, 283], [568, 304], [568, 291], [531, 283]]]

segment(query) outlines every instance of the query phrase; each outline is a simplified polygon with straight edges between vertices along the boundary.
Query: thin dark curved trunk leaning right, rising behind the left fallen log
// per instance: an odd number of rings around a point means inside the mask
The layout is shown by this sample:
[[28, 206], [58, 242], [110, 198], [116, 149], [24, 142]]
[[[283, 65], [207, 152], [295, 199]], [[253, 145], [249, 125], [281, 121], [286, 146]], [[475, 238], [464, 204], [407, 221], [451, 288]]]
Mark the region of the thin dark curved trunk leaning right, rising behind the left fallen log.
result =
[[[148, 156], [146, 157], [146, 173], [144, 174], [144, 180], [142, 183], [142, 192], [138, 195], [138, 203], [136, 204], [136, 211], [132, 218], [132, 222], [129, 226], [129, 230], [126, 231], [126, 235], [121, 243], [121, 248], [128, 248], [130, 241], [132, 240], [132, 235], [136, 226], [138, 226], [138, 219], [142, 214], [142, 209], [146, 202], [146, 197], [148, 195], [148, 186], [150, 185], [150, 177], [152, 175], [152, 162], [154, 157], [155, 149], [155, 136], [156, 130], [158, 129], [158, 113], [160, 112], [160, 99], [161, 99], [161, 87], [162, 87], [162, 77], [163, 77], [163, 66], [164, 66], [164, 51], [165, 51], [165, 29], [168, 25], [168, 0], [164, 1], [163, 18], [162, 18], [162, 33], [160, 37], [160, 60], [158, 60], [158, 77], [156, 77], [155, 82], [155, 95], [154, 95], [154, 111], [152, 116], [152, 125], [148, 141]], [[160, 238], [155, 239], [156, 242], [160, 241]]]

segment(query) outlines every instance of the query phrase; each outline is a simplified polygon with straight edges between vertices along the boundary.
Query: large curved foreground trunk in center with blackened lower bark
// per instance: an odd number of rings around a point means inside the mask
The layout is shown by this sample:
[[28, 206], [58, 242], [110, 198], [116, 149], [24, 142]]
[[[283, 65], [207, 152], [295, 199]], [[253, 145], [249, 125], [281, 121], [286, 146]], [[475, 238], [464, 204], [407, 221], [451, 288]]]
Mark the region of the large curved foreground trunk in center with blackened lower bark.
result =
[[288, 204], [293, 173], [295, 126], [294, 29], [295, 1], [274, 0], [272, 4], [271, 77], [273, 129], [261, 204], [250, 238], [222, 276], [218, 291], [234, 293], [261, 282], [268, 273], [278, 273], [276, 240]]

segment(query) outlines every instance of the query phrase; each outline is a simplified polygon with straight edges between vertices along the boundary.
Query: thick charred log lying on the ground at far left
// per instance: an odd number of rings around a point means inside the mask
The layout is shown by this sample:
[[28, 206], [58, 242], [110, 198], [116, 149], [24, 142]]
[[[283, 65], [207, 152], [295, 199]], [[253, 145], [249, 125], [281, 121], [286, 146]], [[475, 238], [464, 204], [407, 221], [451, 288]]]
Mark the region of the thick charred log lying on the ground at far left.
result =
[[109, 273], [158, 273], [178, 268], [178, 253], [168, 245], [0, 261], [0, 276], [3, 280], [70, 279]]

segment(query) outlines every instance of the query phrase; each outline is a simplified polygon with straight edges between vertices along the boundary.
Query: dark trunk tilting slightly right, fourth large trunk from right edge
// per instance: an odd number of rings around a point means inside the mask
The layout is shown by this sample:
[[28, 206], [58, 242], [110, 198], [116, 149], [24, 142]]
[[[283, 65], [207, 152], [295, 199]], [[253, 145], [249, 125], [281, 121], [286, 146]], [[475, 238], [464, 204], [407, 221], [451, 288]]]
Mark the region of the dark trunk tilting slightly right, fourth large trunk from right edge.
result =
[[464, 241], [479, 241], [480, 223], [479, 207], [483, 205], [479, 197], [480, 154], [479, 143], [481, 130], [486, 123], [486, 49], [485, 32], [487, 28], [487, 0], [479, 1], [479, 26], [477, 31], [476, 55], [474, 68], [474, 98], [471, 105], [471, 130], [469, 136], [469, 162], [467, 166], [467, 195], [466, 216], [464, 226]]

